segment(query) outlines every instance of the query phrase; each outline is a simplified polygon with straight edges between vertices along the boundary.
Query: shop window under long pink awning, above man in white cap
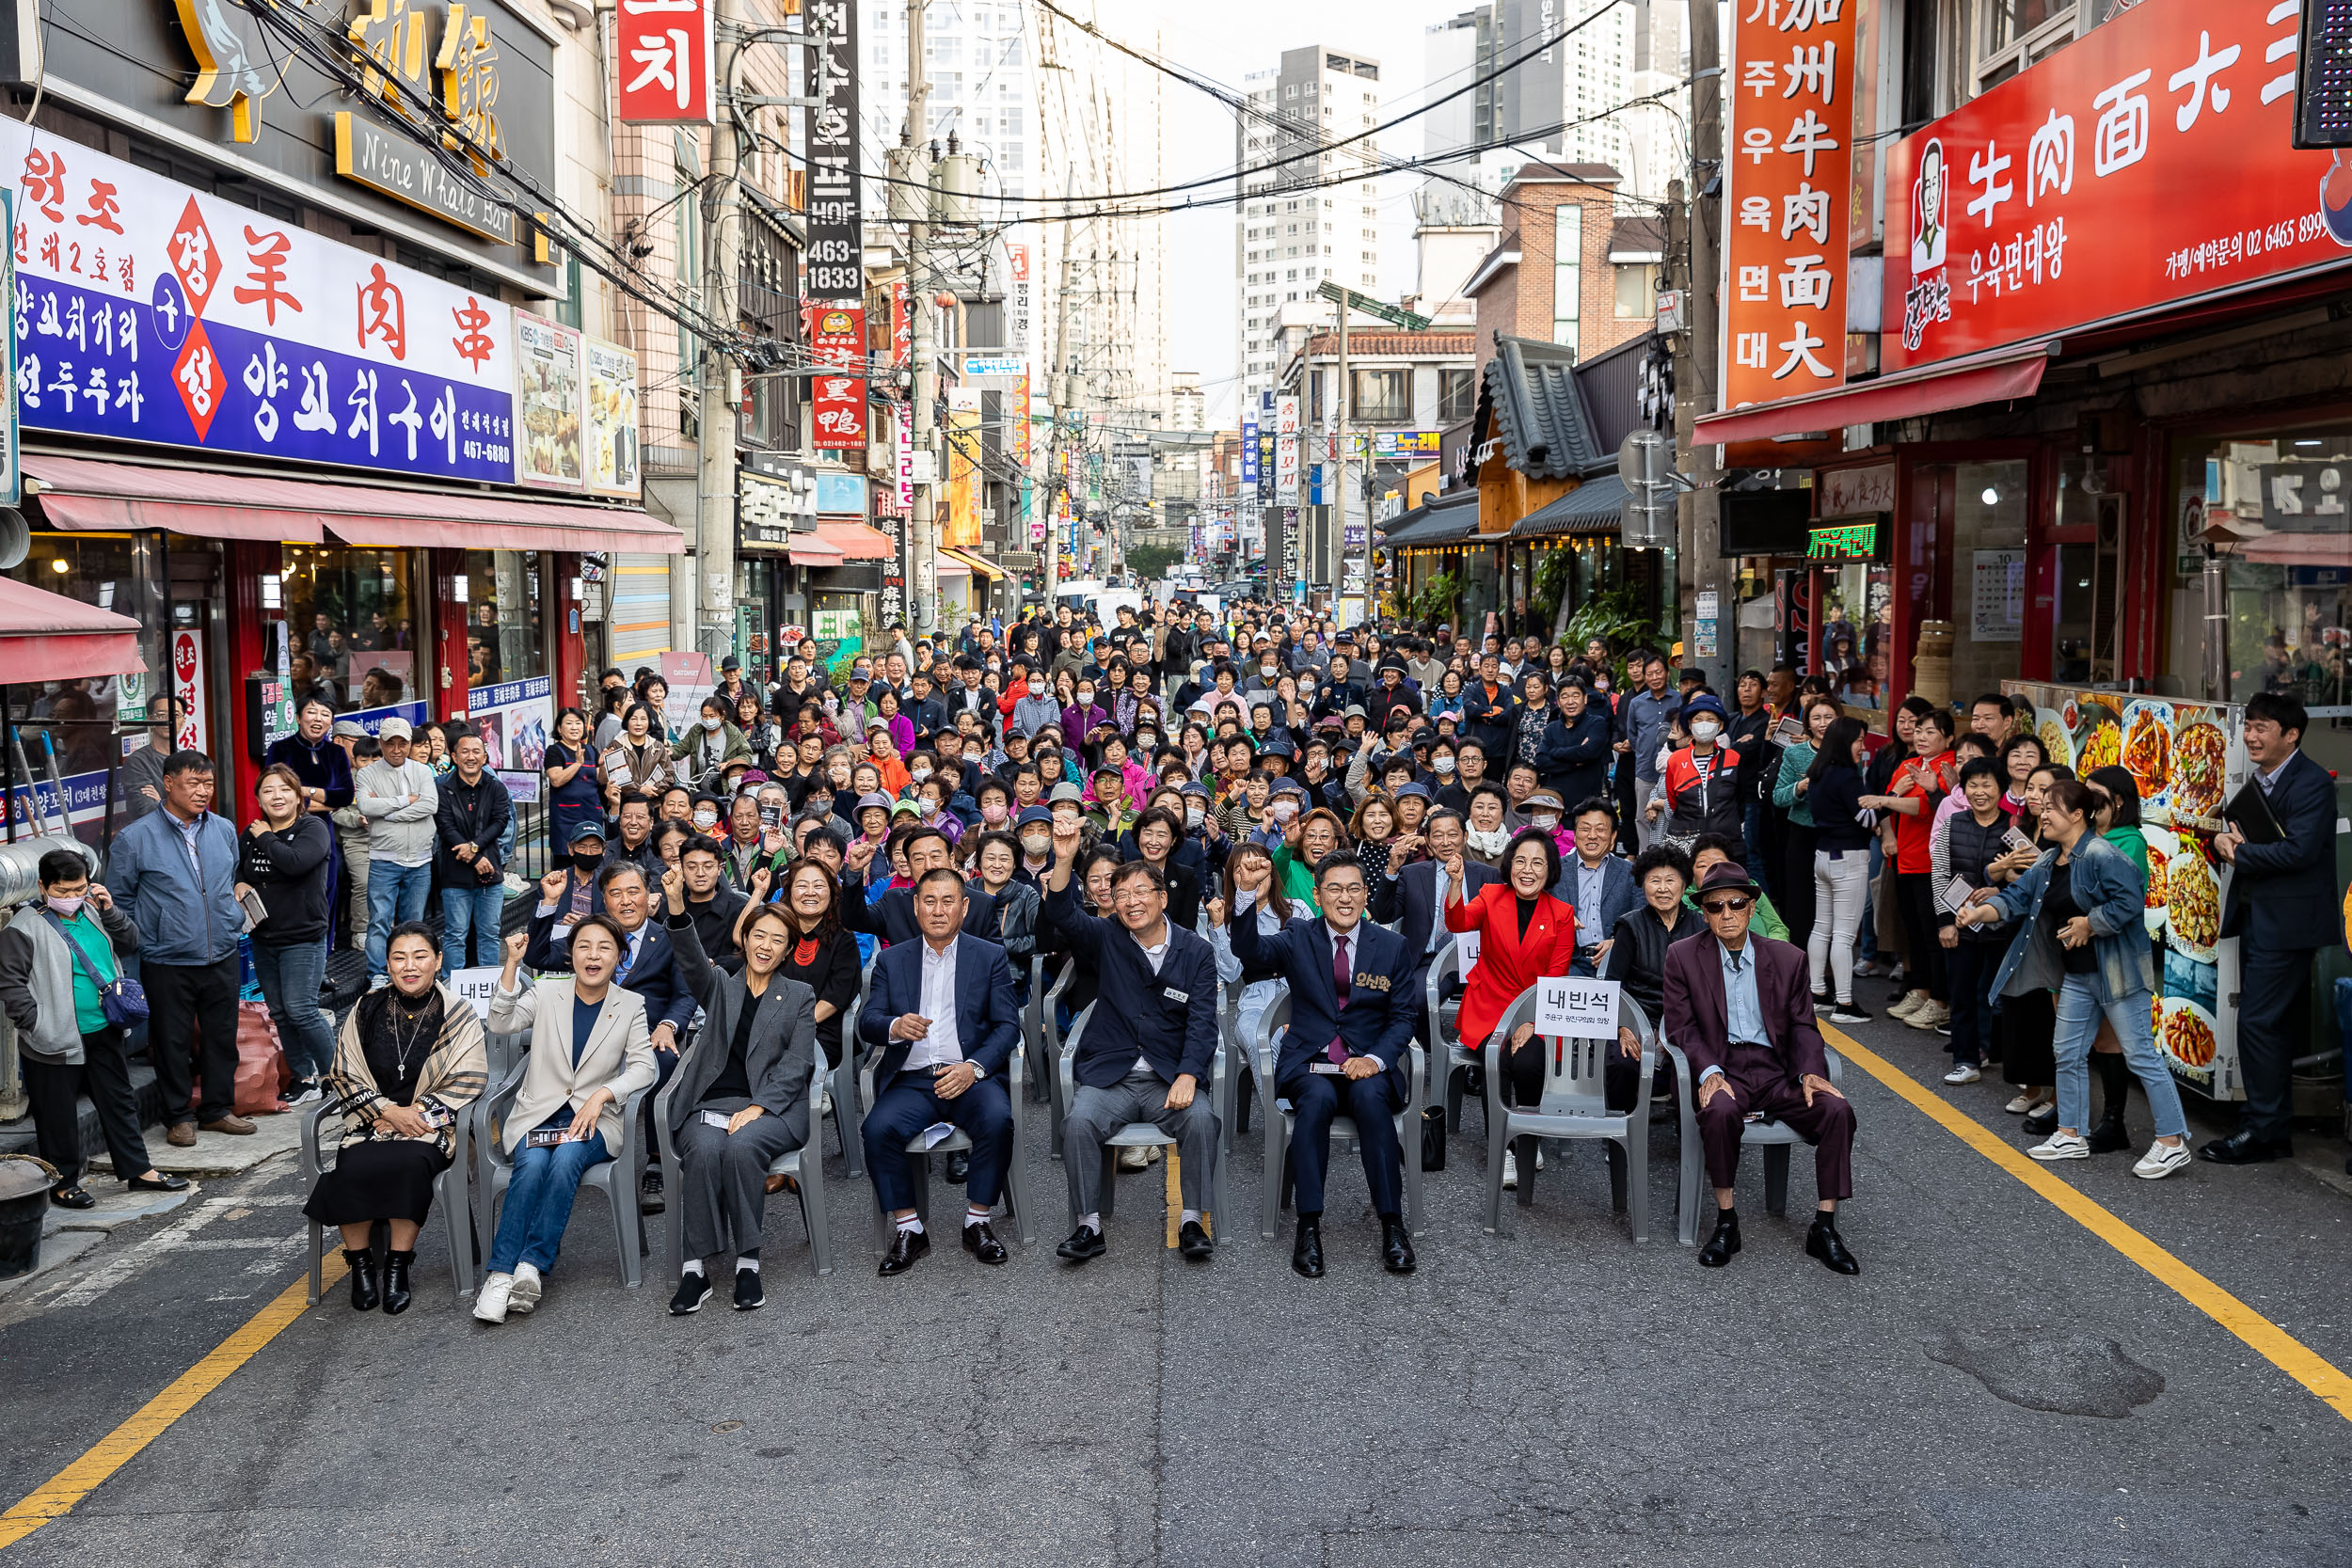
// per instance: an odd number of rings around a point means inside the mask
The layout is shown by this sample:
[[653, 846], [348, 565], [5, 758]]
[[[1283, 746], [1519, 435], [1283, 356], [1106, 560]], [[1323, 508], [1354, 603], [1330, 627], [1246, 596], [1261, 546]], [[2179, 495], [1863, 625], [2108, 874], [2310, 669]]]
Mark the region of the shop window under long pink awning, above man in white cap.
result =
[[423, 701], [426, 635], [416, 555], [353, 545], [287, 545], [278, 595], [294, 635], [294, 701], [322, 691], [336, 712]]

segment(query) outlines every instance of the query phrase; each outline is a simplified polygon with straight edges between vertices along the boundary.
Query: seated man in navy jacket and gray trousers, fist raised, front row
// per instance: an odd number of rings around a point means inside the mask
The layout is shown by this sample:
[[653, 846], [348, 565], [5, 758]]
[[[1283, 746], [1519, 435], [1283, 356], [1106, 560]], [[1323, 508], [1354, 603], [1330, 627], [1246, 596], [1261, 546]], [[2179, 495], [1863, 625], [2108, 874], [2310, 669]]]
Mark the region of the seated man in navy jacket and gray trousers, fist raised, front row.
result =
[[1216, 952], [1169, 919], [1167, 882], [1148, 860], [1127, 860], [1110, 875], [1115, 922], [1087, 914], [1070, 877], [1082, 837], [1068, 816], [1056, 823], [1042, 912], [1044, 926], [1061, 931], [1101, 987], [1070, 1063], [1077, 1093], [1063, 1121], [1061, 1166], [1077, 1227], [1058, 1253], [1070, 1262], [1103, 1255], [1103, 1143], [1129, 1121], [1157, 1121], [1176, 1140], [1178, 1248], [1202, 1260], [1211, 1244], [1200, 1211], [1218, 1138], [1216, 1112], [1202, 1093], [1216, 1056]]

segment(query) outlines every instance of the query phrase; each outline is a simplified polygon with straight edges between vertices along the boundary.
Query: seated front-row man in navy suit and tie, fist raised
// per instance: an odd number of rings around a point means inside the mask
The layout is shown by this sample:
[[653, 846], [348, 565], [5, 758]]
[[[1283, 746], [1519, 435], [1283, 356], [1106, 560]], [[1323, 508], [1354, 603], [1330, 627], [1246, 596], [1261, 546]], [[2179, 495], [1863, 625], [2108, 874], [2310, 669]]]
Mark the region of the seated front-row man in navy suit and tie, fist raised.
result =
[[[1416, 954], [1404, 938], [1364, 919], [1364, 863], [1324, 856], [1315, 867], [1322, 919], [1294, 919], [1261, 936], [1256, 919], [1232, 922], [1242, 969], [1277, 969], [1291, 985], [1291, 1027], [1275, 1063], [1275, 1088], [1298, 1114], [1291, 1173], [1298, 1182], [1298, 1241], [1291, 1267], [1322, 1279], [1322, 1182], [1331, 1164], [1331, 1119], [1343, 1110], [1364, 1147], [1364, 1182], [1381, 1215], [1381, 1262], [1414, 1272], [1404, 1227], [1404, 1150], [1392, 1117], [1411, 1100], [1411, 1044], [1421, 1001]], [[1418, 1157], [1418, 1150], [1416, 1150]], [[1265, 1180], [1282, 1180], [1268, 1171]]]

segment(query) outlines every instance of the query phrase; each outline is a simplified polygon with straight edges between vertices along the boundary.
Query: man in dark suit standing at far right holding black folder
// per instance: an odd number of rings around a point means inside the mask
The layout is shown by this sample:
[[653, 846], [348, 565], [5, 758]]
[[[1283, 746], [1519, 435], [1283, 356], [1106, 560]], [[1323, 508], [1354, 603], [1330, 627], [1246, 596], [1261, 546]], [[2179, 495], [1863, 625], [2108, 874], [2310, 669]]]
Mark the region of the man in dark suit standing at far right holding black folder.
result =
[[[2246, 1117], [2237, 1133], [2197, 1150], [2218, 1166], [2251, 1166], [2293, 1152], [2286, 1138], [2288, 1079], [2310, 1041], [2303, 1006], [2312, 952], [2343, 929], [2336, 910], [2336, 780], [2303, 755], [2310, 715], [2293, 696], [2246, 698], [2246, 762], [2270, 818], [2286, 835], [2249, 844], [2241, 832], [2213, 839], [2237, 867], [2220, 933], [2239, 940], [2237, 1060], [2246, 1074]], [[2352, 1164], [2345, 1166], [2352, 1171]]]

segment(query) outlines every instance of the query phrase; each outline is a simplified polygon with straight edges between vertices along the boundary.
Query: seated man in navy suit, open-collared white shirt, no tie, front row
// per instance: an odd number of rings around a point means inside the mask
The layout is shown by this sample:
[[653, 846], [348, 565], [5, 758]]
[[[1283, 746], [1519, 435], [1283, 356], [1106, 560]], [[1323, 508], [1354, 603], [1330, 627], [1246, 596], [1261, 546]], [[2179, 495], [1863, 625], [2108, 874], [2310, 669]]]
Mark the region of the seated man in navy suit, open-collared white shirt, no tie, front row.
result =
[[875, 959], [858, 1039], [882, 1051], [875, 1107], [866, 1112], [866, 1166], [875, 1197], [898, 1225], [882, 1274], [906, 1274], [931, 1251], [915, 1213], [906, 1145], [941, 1121], [971, 1138], [964, 1190], [964, 1251], [1004, 1262], [990, 1211], [1014, 1159], [1014, 1105], [1004, 1072], [1021, 1044], [1014, 971], [1004, 950], [964, 936], [964, 879], [936, 865], [913, 889], [920, 940], [891, 943]]

